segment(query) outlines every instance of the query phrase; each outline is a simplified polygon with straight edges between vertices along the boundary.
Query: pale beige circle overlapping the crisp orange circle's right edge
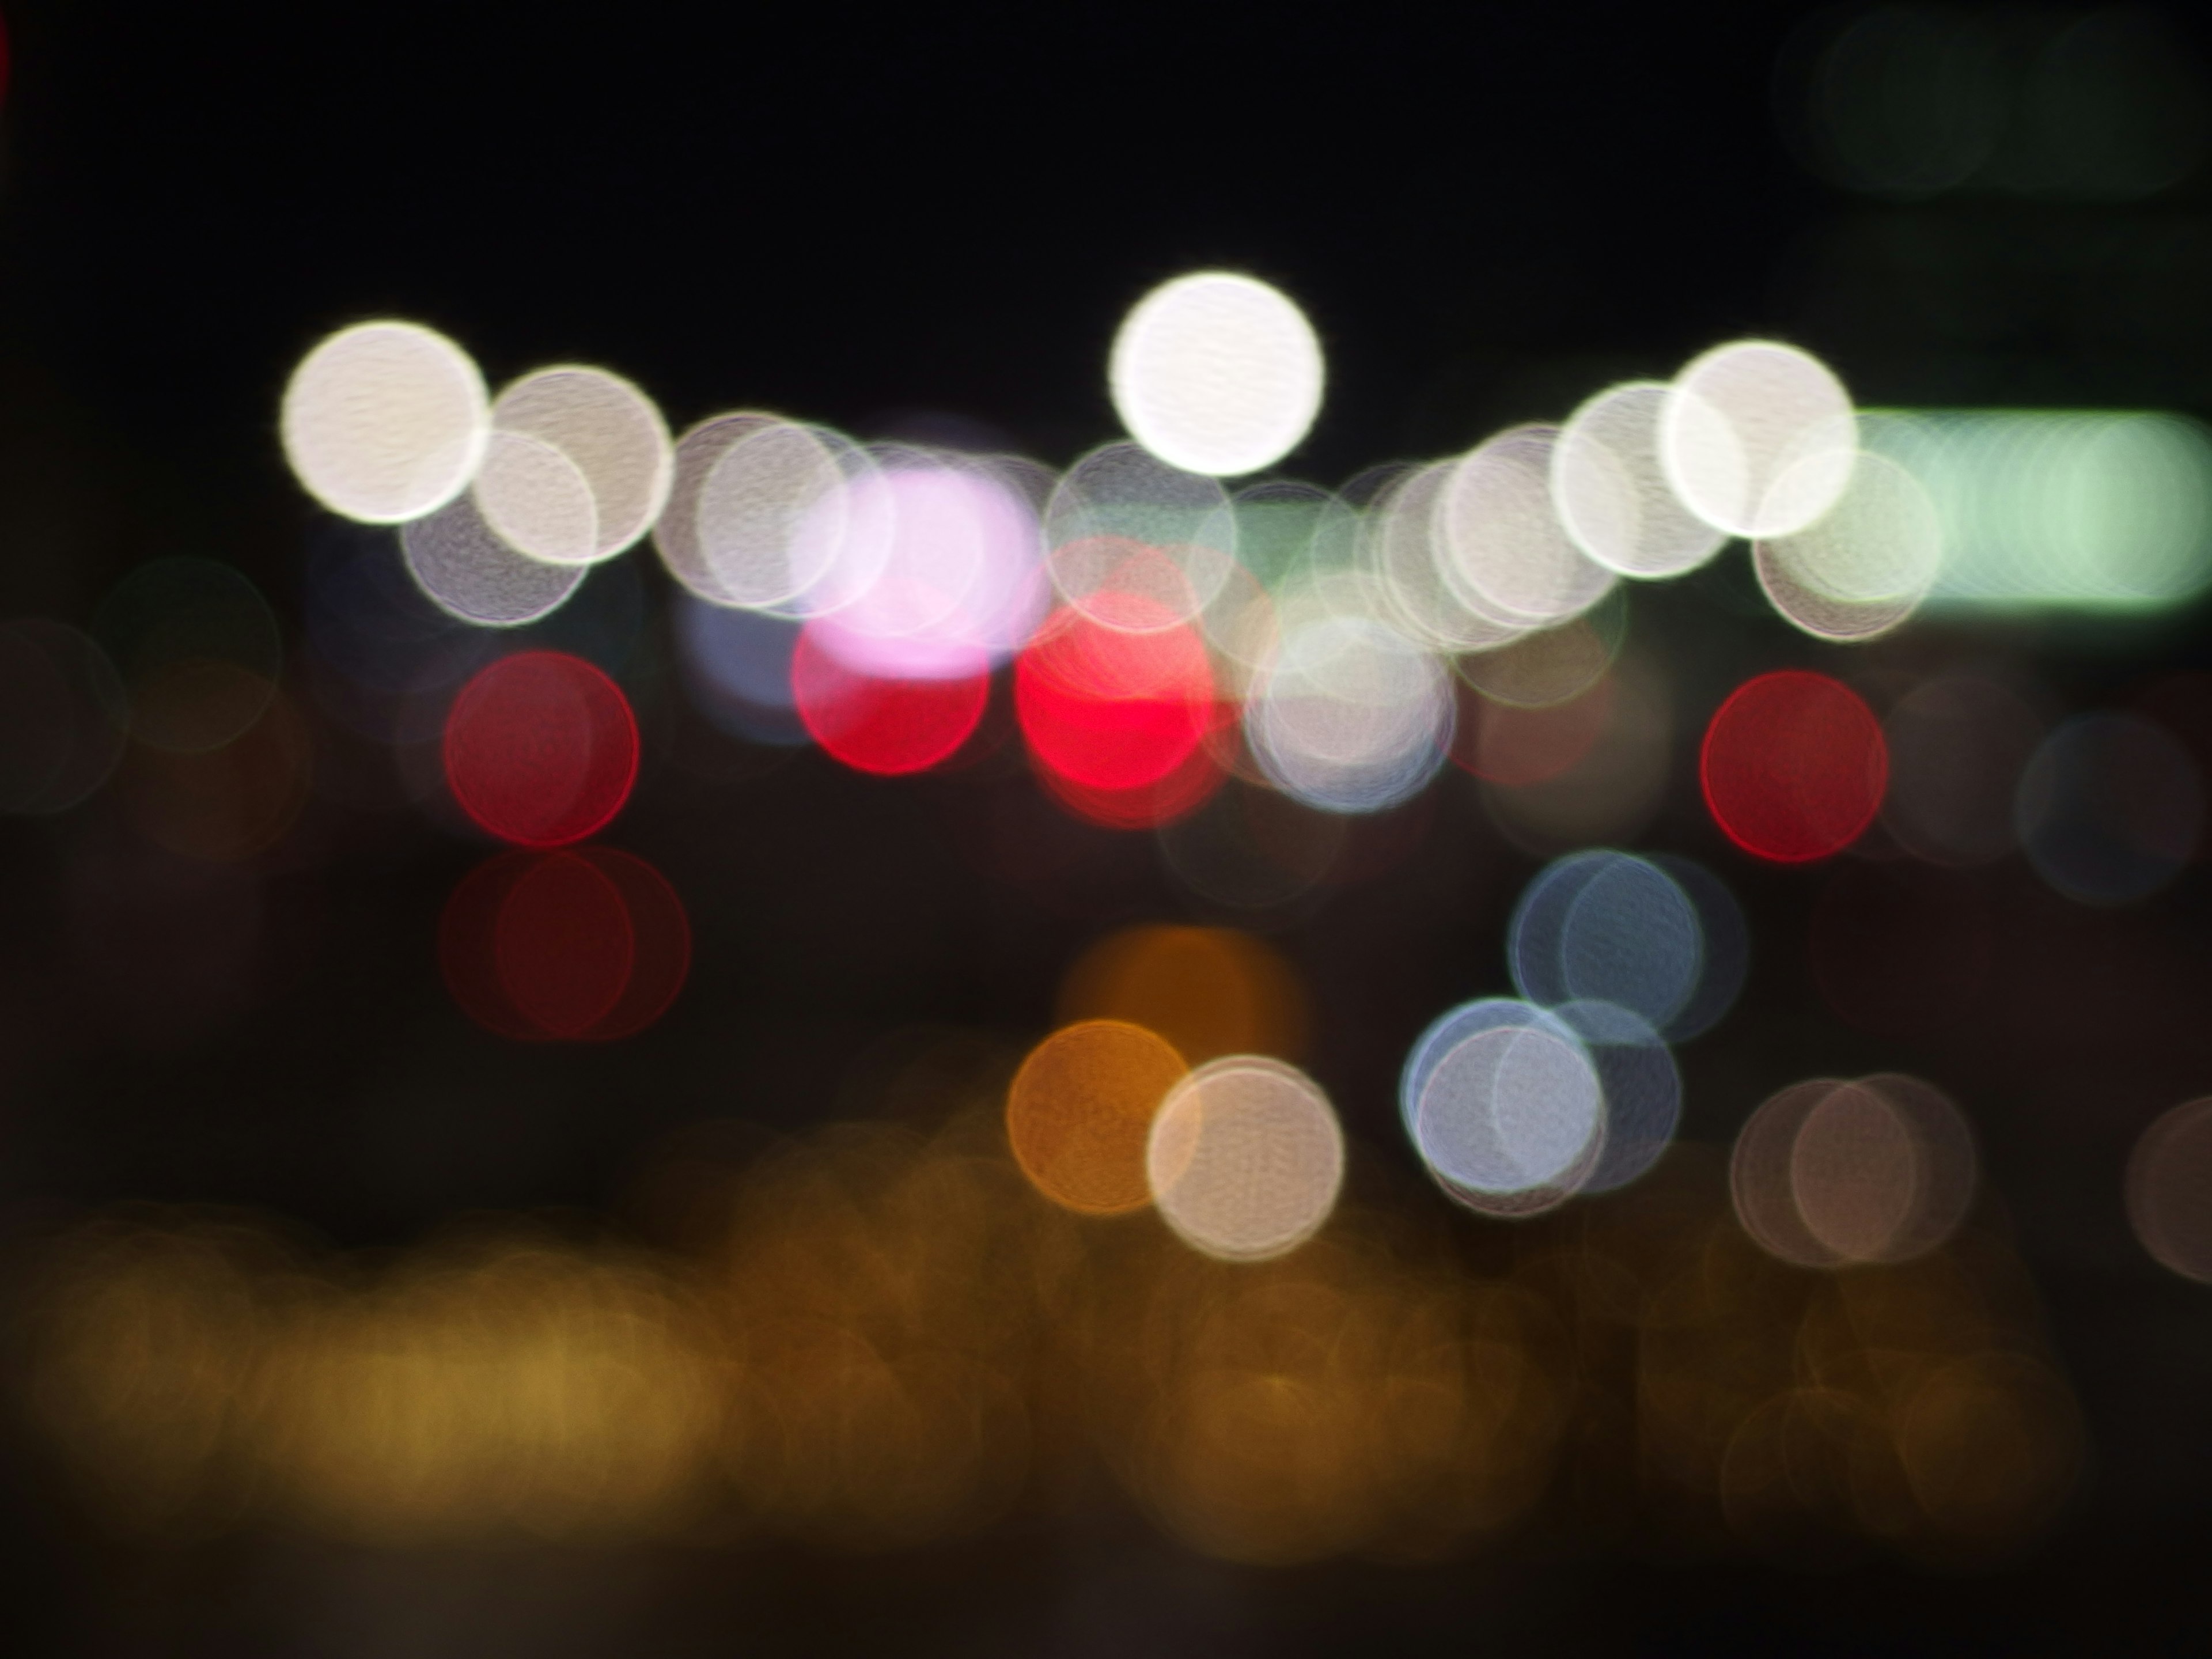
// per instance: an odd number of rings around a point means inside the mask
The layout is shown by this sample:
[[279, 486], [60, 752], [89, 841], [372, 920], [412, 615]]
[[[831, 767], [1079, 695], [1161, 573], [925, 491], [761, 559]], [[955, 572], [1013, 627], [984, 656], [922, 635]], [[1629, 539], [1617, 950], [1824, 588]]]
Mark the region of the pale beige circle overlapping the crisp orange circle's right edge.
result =
[[1223, 1261], [1265, 1261], [1329, 1219], [1345, 1137], [1303, 1071], [1228, 1055], [1168, 1093], [1144, 1164], [1152, 1203], [1183, 1243]]

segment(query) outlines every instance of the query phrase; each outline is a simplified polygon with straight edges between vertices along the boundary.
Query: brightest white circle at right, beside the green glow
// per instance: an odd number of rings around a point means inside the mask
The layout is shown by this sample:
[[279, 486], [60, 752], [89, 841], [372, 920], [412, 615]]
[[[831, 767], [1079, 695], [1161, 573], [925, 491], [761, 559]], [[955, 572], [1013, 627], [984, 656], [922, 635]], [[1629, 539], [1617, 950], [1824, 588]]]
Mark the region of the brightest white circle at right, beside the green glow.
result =
[[1820, 358], [1776, 341], [1732, 341], [1692, 358], [1659, 411], [1659, 462], [1674, 495], [1730, 535], [1790, 535], [1851, 482], [1851, 394]]

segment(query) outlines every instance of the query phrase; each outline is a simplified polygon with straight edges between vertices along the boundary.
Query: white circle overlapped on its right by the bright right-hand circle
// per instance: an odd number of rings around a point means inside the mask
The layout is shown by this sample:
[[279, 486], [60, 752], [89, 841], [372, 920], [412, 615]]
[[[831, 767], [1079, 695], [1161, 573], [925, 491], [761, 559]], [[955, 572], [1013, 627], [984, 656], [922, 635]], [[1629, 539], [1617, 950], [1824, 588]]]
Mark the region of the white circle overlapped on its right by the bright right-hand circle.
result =
[[1575, 546], [1608, 571], [1694, 571], [1728, 535], [1686, 511], [1659, 465], [1659, 380], [1608, 387], [1566, 418], [1551, 451], [1551, 498]]

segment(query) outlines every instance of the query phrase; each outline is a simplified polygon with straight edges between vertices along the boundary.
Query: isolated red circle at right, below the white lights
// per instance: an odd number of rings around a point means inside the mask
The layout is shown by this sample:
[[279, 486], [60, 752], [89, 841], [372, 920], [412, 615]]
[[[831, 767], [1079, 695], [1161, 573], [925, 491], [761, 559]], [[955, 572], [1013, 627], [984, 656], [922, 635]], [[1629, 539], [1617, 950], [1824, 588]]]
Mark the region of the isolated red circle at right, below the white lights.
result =
[[1796, 865], [1843, 852], [1874, 823], [1889, 745], [1849, 686], [1785, 668], [1747, 679], [1721, 703], [1697, 772], [1730, 841]]

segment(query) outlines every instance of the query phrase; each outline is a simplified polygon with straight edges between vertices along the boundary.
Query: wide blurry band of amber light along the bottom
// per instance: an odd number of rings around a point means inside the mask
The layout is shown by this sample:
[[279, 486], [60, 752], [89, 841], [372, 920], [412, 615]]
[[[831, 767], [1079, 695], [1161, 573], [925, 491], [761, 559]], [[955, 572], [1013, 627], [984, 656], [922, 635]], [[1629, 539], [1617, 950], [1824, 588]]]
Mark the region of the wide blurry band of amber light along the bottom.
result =
[[1807, 1274], [1677, 1148], [1573, 1217], [1447, 1237], [1391, 1194], [1212, 1261], [1035, 1197], [1006, 1057], [962, 1042], [889, 1086], [936, 1128], [737, 1161], [679, 1135], [637, 1203], [681, 1250], [520, 1219], [385, 1261], [243, 1217], [80, 1225], [24, 1263], [20, 1407], [95, 1515], [159, 1535], [905, 1548], [1097, 1502], [1095, 1469], [1241, 1562], [1453, 1557], [1537, 1511], [1978, 1562], [2070, 1489], [2073, 1402], [1995, 1234]]

